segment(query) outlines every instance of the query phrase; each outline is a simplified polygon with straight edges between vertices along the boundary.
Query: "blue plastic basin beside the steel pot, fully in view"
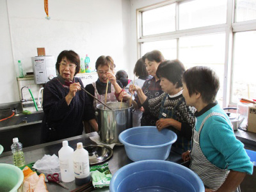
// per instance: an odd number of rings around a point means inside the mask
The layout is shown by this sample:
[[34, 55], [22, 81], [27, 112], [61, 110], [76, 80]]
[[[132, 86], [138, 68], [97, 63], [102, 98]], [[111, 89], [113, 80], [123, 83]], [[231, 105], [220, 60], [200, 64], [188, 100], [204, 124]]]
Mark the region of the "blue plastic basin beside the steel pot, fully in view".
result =
[[127, 129], [118, 138], [132, 161], [165, 160], [170, 154], [172, 143], [177, 140], [177, 135], [169, 129], [158, 131], [154, 126], [145, 126]]

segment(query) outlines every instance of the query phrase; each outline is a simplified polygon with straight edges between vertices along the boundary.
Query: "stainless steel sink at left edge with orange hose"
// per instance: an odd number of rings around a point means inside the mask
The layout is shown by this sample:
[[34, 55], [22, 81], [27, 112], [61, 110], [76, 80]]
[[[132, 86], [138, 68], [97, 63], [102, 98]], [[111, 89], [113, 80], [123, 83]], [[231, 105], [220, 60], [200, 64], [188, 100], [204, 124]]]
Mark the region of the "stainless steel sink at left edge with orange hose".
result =
[[28, 125], [28, 124], [34, 124], [34, 123], [37, 124], [42, 122], [43, 117], [44, 117], [43, 111], [31, 113], [29, 115], [24, 115], [20, 113], [0, 122], [0, 130], [3, 130], [4, 127], [6, 128], [8, 127], [8, 129], [10, 129], [15, 127], [21, 127], [22, 125]]

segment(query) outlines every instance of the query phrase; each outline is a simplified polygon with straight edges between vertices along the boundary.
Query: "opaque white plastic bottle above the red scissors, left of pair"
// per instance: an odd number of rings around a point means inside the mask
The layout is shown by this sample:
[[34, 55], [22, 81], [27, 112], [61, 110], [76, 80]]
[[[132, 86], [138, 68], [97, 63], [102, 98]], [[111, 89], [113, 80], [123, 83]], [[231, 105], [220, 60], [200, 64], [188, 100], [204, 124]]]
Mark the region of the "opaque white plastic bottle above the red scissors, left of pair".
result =
[[73, 165], [74, 149], [68, 146], [68, 141], [62, 141], [62, 147], [59, 150], [60, 173], [63, 182], [75, 180]]

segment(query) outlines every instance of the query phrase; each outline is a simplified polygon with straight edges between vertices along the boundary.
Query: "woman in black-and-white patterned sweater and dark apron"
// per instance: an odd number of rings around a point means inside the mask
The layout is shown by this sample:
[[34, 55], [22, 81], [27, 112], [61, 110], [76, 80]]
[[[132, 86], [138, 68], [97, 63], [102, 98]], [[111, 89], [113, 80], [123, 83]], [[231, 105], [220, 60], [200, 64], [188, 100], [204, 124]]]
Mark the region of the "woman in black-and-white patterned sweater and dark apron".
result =
[[145, 111], [150, 111], [158, 118], [157, 129], [171, 129], [177, 134], [172, 150], [179, 154], [191, 148], [192, 129], [195, 125], [195, 108], [186, 106], [182, 96], [184, 72], [184, 65], [179, 60], [163, 61], [157, 68], [156, 75], [164, 93], [154, 99], [140, 97]]

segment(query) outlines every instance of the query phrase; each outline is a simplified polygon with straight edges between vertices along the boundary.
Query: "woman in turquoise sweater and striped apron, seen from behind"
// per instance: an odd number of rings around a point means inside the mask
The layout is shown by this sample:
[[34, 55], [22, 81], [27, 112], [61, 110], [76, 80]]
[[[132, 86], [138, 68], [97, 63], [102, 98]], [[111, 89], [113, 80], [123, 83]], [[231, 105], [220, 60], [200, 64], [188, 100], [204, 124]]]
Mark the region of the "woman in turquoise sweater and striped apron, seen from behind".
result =
[[240, 191], [253, 164], [236, 139], [227, 114], [215, 100], [220, 88], [216, 73], [208, 67], [192, 67], [183, 75], [183, 96], [196, 108], [192, 149], [182, 154], [189, 168], [204, 182], [205, 191]]

